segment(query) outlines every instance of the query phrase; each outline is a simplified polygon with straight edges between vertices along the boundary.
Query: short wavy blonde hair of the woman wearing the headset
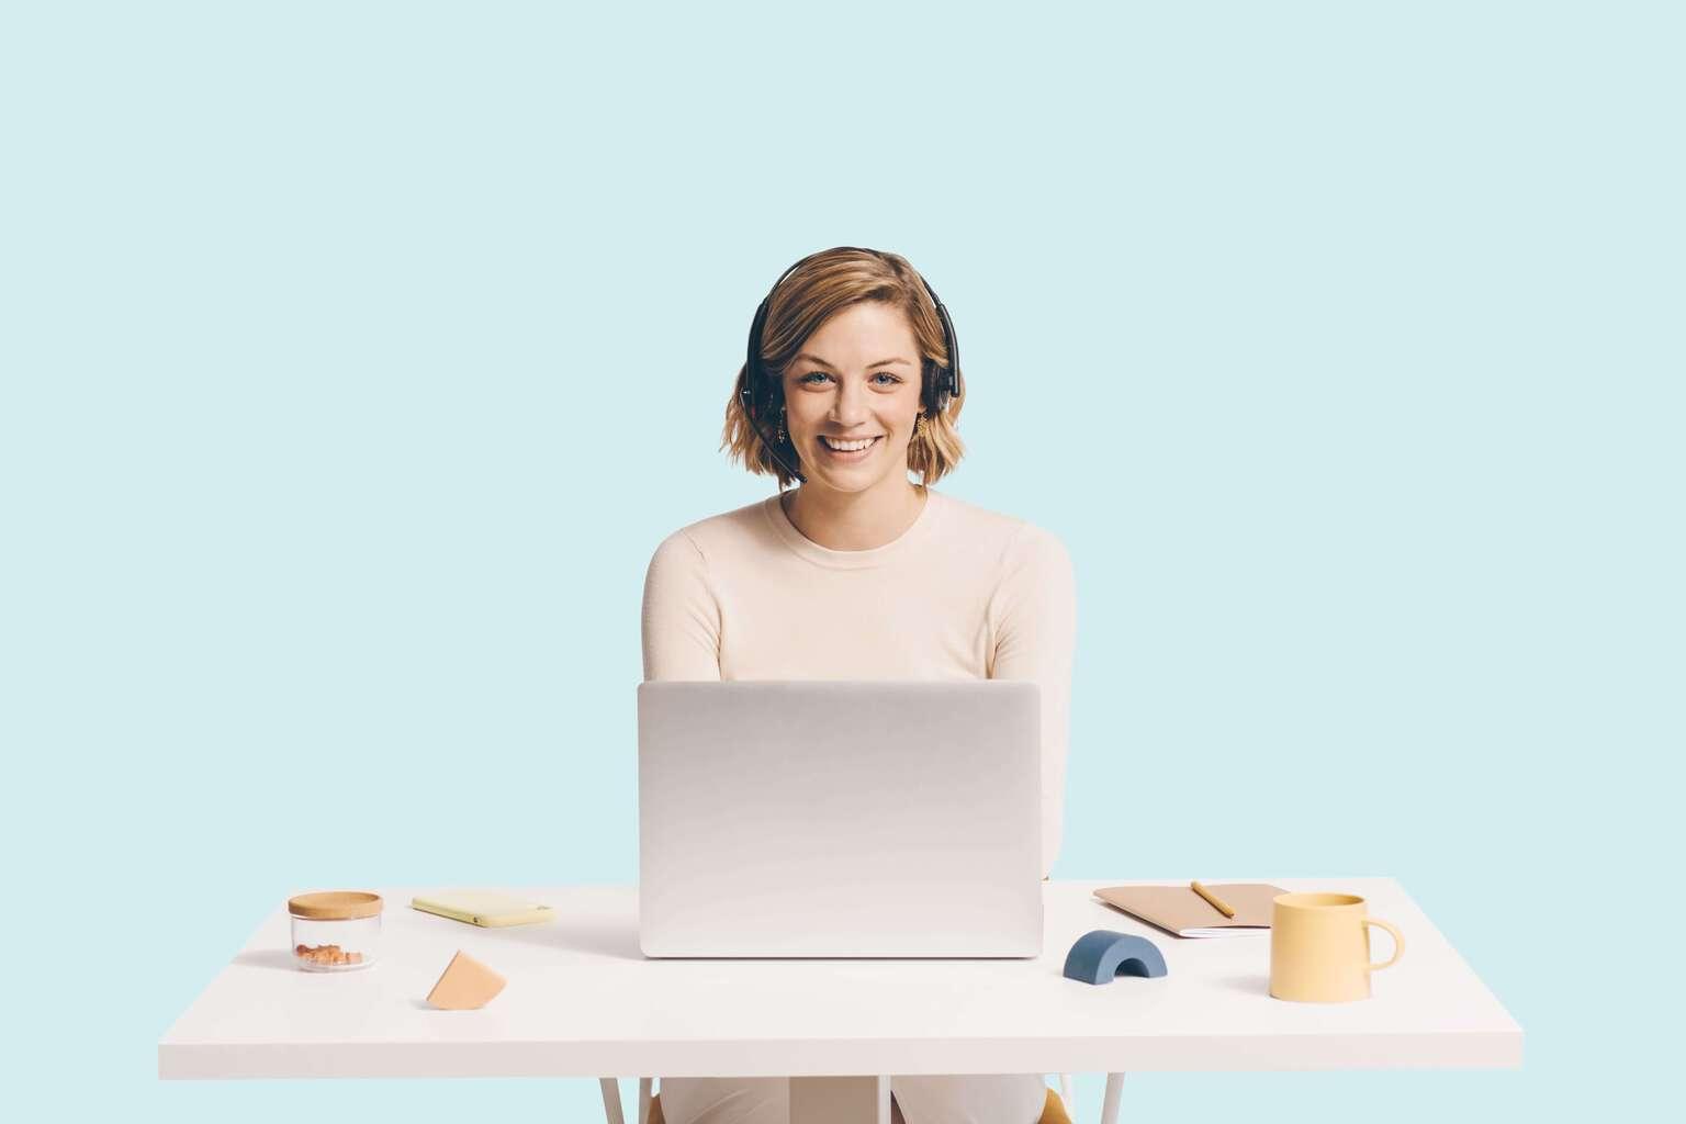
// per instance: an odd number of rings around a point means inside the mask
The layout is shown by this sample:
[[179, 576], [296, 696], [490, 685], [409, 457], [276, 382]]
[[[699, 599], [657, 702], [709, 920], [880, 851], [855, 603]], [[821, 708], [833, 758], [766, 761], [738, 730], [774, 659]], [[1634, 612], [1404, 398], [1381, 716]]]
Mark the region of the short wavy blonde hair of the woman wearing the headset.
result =
[[[860, 246], [833, 246], [803, 258], [767, 300], [767, 320], [760, 332], [762, 381], [776, 386], [749, 386], [749, 362], [738, 367], [720, 438], [720, 448], [728, 450], [730, 460], [742, 460], [750, 472], [777, 477], [781, 490], [791, 484], [794, 477], [781, 458], [791, 465], [799, 463], [796, 447], [786, 436], [777, 450], [779, 457], [767, 448], [767, 440], [772, 440], [772, 413], [784, 401], [786, 367], [821, 324], [863, 302], [900, 308], [919, 345], [919, 404], [926, 411], [926, 421], [919, 426], [919, 436], [907, 443], [907, 468], [917, 472], [924, 484], [934, 484], [959, 463], [966, 455], [966, 445], [956, 430], [966, 403], [966, 381], [959, 371], [954, 372], [958, 393], [941, 413], [932, 409], [937, 399], [934, 376], [951, 361], [937, 307], [907, 258]], [[765, 440], [744, 409], [744, 391], [749, 391], [749, 399], [755, 404], [755, 421], [767, 431]]]

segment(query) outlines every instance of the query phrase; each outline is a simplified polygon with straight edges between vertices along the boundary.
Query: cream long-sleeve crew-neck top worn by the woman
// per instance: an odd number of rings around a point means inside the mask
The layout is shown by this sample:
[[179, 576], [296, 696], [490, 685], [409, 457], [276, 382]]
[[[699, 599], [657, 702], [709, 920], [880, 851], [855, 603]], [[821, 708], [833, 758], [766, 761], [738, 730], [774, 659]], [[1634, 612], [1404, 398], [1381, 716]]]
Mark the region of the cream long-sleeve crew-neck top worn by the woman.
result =
[[1052, 533], [926, 489], [897, 539], [835, 551], [777, 495], [674, 531], [644, 576], [644, 679], [1028, 679], [1042, 871], [1066, 806], [1076, 580]]

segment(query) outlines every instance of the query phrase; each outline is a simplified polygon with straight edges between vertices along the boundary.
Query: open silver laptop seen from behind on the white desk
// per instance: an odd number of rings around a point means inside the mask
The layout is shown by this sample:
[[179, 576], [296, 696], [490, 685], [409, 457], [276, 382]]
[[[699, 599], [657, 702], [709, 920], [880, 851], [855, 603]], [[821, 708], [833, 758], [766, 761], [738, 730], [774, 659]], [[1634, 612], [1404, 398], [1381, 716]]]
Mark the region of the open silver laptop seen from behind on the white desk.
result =
[[637, 688], [646, 955], [1042, 952], [1040, 689]]

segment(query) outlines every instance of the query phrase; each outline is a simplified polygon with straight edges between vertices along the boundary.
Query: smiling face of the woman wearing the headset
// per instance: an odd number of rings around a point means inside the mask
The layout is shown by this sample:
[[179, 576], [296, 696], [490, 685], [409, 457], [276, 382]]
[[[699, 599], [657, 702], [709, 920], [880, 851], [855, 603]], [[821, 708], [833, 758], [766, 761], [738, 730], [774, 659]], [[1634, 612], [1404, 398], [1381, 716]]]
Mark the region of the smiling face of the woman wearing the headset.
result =
[[[784, 372], [784, 428], [806, 484], [838, 492], [905, 484], [919, 376], [914, 327], [900, 308], [863, 302], [821, 324]], [[872, 443], [838, 452], [826, 438]]]

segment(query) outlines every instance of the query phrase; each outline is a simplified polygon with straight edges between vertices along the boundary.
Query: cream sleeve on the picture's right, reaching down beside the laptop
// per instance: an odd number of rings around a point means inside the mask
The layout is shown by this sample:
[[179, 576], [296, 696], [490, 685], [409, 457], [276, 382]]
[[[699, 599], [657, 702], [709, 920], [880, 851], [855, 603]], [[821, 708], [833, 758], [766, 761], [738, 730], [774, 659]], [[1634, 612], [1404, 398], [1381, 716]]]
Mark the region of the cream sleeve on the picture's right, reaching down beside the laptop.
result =
[[1030, 679], [1042, 691], [1042, 873], [1054, 870], [1066, 814], [1071, 666], [1077, 645], [1077, 583], [1066, 544], [1025, 524], [1003, 561], [993, 602], [991, 679]]

